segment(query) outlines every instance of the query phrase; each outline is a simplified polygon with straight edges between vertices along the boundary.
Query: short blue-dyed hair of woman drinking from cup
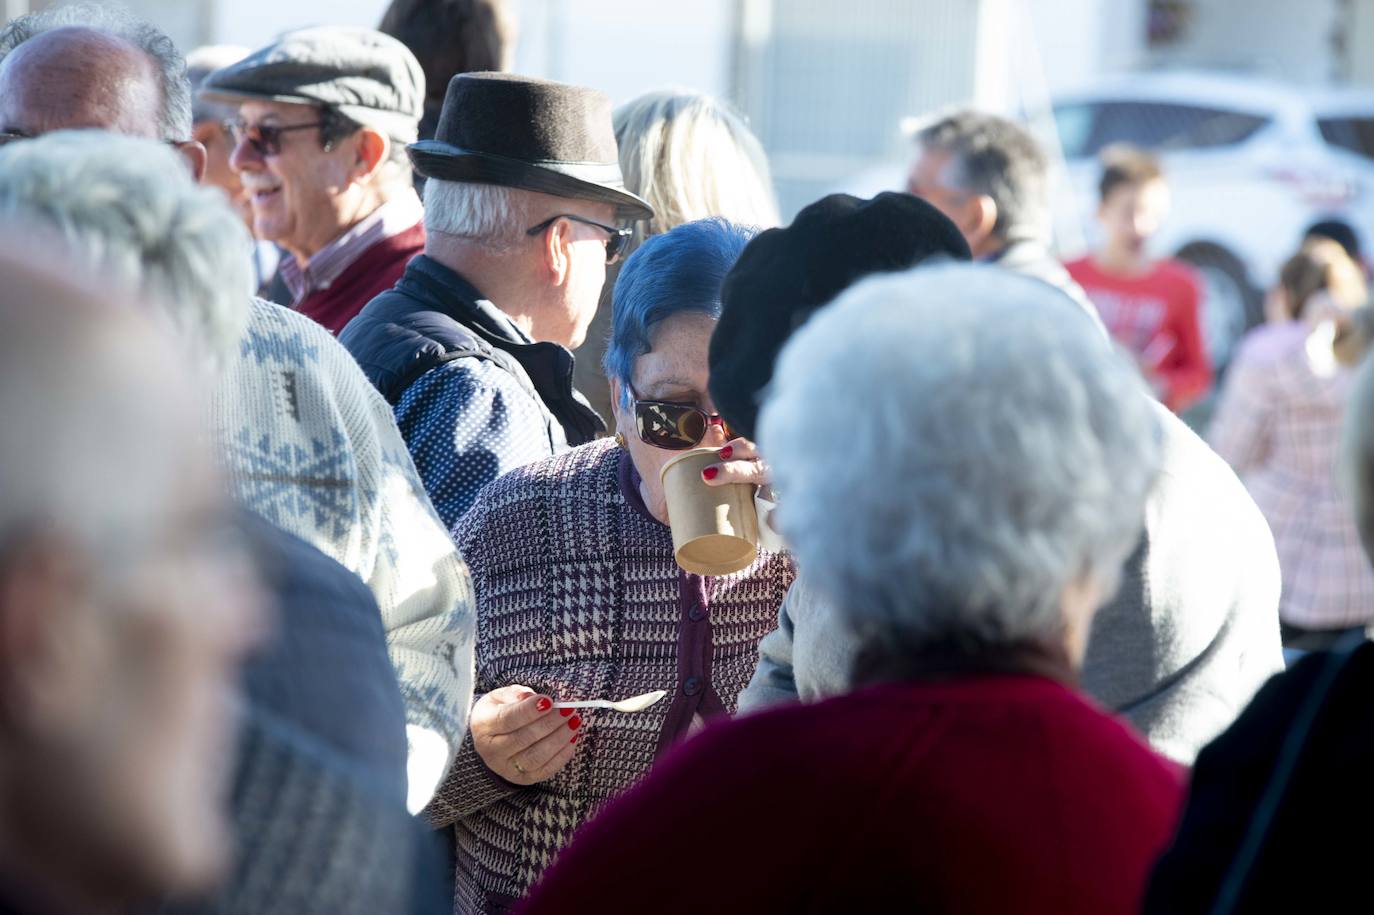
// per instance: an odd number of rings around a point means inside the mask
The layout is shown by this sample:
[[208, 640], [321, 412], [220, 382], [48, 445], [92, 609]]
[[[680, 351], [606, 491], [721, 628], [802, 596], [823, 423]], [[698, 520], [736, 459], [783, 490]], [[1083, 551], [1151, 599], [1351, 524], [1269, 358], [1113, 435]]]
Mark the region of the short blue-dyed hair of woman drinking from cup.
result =
[[620, 379], [622, 405], [629, 404], [635, 360], [649, 352], [654, 324], [682, 312], [720, 317], [720, 286], [754, 231], [710, 217], [655, 235], [629, 256], [616, 278], [602, 363], [606, 378]]

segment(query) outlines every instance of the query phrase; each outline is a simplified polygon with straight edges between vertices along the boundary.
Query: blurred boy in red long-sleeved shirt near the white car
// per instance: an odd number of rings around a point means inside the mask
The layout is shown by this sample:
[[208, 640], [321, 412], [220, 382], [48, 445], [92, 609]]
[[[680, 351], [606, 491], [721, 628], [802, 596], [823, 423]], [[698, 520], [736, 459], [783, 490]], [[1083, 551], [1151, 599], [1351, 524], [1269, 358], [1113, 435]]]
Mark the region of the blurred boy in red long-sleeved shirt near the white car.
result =
[[1103, 157], [1098, 188], [1103, 246], [1065, 267], [1112, 337], [1135, 354], [1160, 400], [1179, 412], [1206, 393], [1212, 365], [1198, 323], [1197, 275], [1145, 250], [1168, 216], [1169, 187], [1153, 155], [1117, 148]]

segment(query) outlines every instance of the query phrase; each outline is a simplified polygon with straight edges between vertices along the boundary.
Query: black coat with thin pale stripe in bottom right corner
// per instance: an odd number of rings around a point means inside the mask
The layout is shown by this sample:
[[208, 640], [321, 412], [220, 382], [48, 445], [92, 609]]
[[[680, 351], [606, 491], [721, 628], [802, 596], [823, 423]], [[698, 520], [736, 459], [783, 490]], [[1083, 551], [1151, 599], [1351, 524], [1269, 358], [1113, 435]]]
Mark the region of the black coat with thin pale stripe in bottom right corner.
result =
[[[1374, 644], [1363, 643], [1345, 659], [1333, 657], [1309, 654], [1274, 676], [1198, 754], [1178, 835], [1150, 882], [1147, 914], [1215, 911], [1290, 742], [1301, 752], [1286, 789], [1275, 791], [1272, 822], [1256, 831], [1264, 839], [1230, 911], [1370, 908], [1364, 830], [1374, 820]], [[1301, 719], [1311, 712], [1304, 732]]]

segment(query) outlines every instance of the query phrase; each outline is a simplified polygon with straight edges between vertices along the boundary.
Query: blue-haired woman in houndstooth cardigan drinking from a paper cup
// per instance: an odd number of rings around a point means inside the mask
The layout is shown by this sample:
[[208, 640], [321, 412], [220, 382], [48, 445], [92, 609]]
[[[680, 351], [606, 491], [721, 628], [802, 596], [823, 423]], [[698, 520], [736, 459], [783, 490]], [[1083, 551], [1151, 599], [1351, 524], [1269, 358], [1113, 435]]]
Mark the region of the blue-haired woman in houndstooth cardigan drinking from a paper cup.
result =
[[[708, 393], [720, 284], [749, 236], [701, 220], [635, 251], [606, 357], [618, 436], [499, 478], [458, 530], [477, 591], [481, 698], [431, 812], [456, 830], [460, 912], [510, 905], [661, 752], [734, 712], [776, 620], [790, 559], [757, 550], [732, 574], [683, 570], [660, 479], [698, 448], [721, 452], [699, 471], [714, 484], [763, 479]], [[719, 488], [702, 479], [697, 495]], [[639, 712], [558, 708], [660, 690]]]

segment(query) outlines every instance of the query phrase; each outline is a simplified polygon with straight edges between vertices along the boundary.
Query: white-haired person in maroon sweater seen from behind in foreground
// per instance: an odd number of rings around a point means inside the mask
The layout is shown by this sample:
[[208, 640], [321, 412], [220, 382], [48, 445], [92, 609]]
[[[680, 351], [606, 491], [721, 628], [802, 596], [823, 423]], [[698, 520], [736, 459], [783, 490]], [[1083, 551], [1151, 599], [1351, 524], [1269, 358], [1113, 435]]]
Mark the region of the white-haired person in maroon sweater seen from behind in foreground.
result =
[[1040, 280], [918, 268], [797, 332], [760, 445], [859, 691], [708, 727], [522, 911], [1135, 912], [1180, 773], [1076, 687], [1162, 453], [1135, 370]]

